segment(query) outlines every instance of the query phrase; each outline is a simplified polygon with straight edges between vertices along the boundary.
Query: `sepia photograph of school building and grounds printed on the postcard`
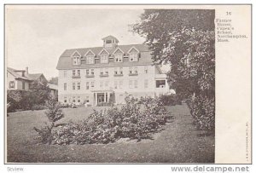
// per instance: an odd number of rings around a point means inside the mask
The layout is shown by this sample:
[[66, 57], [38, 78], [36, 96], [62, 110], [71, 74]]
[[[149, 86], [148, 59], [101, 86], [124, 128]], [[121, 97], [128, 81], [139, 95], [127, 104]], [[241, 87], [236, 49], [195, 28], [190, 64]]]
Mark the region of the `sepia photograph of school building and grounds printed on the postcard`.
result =
[[136, 7], [5, 6], [5, 163], [216, 163], [226, 21]]

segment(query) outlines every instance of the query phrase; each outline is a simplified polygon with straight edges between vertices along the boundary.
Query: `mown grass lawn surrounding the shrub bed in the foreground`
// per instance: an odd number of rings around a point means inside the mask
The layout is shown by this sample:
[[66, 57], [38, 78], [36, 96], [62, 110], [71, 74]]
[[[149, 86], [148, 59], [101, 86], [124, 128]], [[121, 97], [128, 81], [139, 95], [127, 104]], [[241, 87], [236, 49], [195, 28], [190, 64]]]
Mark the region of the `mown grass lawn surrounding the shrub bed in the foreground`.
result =
[[[80, 121], [93, 108], [63, 109], [60, 123]], [[196, 130], [186, 105], [167, 107], [174, 119], [153, 140], [111, 144], [43, 145], [33, 139], [47, 118], [43, 111], [9, 113], [7, 117], [8, 163], [214, 163], [214, 136]]]

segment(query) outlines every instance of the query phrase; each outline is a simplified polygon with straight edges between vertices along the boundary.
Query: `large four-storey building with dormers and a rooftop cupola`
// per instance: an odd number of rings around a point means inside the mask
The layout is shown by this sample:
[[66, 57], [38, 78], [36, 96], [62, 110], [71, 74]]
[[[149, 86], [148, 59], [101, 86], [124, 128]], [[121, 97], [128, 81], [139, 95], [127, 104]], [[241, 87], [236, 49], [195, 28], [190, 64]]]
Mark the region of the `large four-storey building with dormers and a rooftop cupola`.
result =
[[59, 101], [98, 106], [122, 103], [127, 95], [154, 97], [170, 91], [166, 74], [152, 62], [147, 45], [119, 45], [113, 36], [102, 40], [102, 47], [62, 53], [56, 67]]

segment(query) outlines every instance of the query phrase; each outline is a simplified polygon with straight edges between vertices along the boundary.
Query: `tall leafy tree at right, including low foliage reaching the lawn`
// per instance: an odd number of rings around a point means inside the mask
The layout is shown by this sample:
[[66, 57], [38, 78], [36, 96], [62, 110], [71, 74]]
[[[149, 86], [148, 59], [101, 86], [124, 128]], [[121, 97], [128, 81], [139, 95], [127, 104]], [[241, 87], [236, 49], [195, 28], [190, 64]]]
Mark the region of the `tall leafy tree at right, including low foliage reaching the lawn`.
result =
[[213, 130], [214, 10], [148, 9], [132, 30], [146, 38], [154, 63], [170, 64], [169, 80], [177, 94], [189, 99], [197, 126]]

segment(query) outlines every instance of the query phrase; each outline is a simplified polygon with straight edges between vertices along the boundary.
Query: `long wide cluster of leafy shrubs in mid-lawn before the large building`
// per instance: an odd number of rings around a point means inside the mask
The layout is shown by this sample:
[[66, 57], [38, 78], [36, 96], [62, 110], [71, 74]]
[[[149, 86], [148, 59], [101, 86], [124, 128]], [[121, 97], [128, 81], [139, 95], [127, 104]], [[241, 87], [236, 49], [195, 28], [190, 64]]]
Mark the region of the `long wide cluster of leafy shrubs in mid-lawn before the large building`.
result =
[[171, 118], [159, 100], [143, 101], [143, 107], [134, 99], [125, 99], [121, 108], [110, 107], [103, 111], [94, 111], [82, 123], [69, 123], [54, 130], [55, 144], [109, 143], [119, 138], [150, 138]]

